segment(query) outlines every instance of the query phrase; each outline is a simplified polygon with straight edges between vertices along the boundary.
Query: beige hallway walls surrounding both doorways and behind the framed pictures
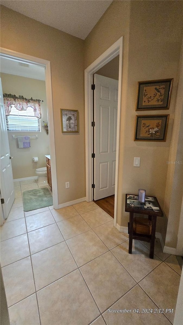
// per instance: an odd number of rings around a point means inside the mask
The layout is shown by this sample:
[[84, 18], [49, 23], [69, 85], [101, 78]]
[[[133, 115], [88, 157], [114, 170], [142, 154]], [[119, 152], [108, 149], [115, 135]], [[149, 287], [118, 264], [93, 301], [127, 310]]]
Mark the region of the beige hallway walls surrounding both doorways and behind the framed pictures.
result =
[[[146, 188], [150, 195], [156, 195], [163, 206], [166, 161], [174, 122], [182, 17], [181, 1], [113, 1], [86, 40], [82, 41], [2, 6], [1, 46], [51, 62], [59, 203], [85, 196], [83, 67], [87, 68], [123, 36], [117, 222], [127, 226], [125, 193], [137, 192], [139, 187]], [[160, 143], [134, 142], [137, 82], [162, 78], [174, 78], [170, 109], [150, 113], [170, 114], [167, 140]], [[79, 110], [79, 134], [61, 133], [61, 108]], [[144, 113], [147, 112], [139, 112]], [[133, 167], [134, 157], [141, 157], [138, 169]], [[70, 189], [65, 189], [65, 181], [70, 181]], [[167, 217], [166, 212], [165, 225]], [[162, 225], [158, 220], [158, 231], [165, 230], [166, 226]]]

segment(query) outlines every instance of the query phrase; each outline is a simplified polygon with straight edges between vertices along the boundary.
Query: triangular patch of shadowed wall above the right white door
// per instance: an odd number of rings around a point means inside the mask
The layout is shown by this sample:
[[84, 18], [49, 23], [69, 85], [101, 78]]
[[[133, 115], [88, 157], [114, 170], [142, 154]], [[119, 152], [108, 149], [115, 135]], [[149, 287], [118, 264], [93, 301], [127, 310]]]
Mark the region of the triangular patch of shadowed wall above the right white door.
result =
[[117, 55], [116, 58], [112, 59], [110, 62], [105, 64], [101, 69], [99, 69], [97, 74], [100, 76], [112, 78], [112, 79], [119, 79], [119, 59], [120, 56]]

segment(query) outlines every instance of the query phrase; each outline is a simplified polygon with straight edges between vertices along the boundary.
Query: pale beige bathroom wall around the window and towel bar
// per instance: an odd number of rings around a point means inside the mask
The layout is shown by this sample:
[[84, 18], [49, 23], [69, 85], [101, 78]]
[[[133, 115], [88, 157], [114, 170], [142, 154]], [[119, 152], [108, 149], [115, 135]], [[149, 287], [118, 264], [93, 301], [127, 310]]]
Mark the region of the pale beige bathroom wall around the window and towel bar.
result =
[[[1, 73], [1, 81], [3, 93], [22, 95], [25, 98], [39, 98], [44, 102], [41, 103], [43, 121], [48, 121], [47, 103], [46, 103], [46, 88], [45, 81], [15, 76], [12, 74]], [[18, 148], [17, 139], [12, 139], [12, 134], [15, 136], [21, 135], [38, 135], [38, 139], [31, 139], [31, 148]], [[41, 132], [8, 132], [10, 154], [13, 156], [11, 161], [13, 178], [23, 178], [36, 176], [35, 169], [46, 166], [45, 155], [49, 155], [49, 136], [46, 130], [41, 126]], [[32, 157], [38, 157], [38, 162], [33, 162]]]

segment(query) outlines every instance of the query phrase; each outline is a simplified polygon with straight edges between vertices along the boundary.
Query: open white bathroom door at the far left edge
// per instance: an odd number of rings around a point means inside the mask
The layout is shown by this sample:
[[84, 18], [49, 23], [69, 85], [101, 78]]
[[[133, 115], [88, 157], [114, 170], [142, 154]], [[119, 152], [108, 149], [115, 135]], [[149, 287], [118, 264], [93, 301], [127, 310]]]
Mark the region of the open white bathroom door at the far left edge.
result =
[[1, 136], [1, 148], [0, 148], [0, 190], [1, 198], [5, 203], [2, 204], [3, 217], [7, 218], [13, 201], [15, 199], [14, 185], [13, 185], [13, 173], [10, 160], [9, 142], [7, 135], [6, 117], [4, 110], [3, 91], [0, 79], [0, 136]]

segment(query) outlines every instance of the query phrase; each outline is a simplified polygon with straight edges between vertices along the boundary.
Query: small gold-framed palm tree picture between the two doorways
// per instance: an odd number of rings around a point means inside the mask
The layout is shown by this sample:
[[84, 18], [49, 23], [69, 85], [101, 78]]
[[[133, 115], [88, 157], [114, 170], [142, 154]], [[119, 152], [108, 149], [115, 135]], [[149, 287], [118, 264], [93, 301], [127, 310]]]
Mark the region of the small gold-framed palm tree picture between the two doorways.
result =
[[78, 110], [61, 109], [62, 132], [79, 132]]

